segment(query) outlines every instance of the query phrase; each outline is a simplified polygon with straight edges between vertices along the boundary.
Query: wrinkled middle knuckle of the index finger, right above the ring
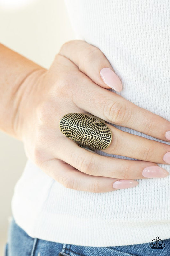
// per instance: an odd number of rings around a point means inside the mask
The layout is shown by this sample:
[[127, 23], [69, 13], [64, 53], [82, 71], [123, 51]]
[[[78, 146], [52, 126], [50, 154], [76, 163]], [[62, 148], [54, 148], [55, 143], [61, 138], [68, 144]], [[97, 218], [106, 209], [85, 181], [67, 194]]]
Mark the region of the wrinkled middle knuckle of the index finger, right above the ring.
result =
[[103, 108], [103, 115], [115, 124], [123, 124], [126, 122], [129, 113], [126, 105], [122, 105], [119, 102], [107, 102]]

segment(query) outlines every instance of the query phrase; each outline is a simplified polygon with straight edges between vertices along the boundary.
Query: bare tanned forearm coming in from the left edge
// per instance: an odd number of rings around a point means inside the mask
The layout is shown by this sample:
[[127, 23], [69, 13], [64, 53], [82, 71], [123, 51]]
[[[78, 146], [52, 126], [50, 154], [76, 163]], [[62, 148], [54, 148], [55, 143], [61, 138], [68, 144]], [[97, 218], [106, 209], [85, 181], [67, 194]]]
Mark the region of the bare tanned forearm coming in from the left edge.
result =
[[29, 80], [33, 83], [33, 76], [44, 71], [38, 64], [0, 44], [0, 130], [18, 137], [15, 126], [23, 92], [29, 93]]

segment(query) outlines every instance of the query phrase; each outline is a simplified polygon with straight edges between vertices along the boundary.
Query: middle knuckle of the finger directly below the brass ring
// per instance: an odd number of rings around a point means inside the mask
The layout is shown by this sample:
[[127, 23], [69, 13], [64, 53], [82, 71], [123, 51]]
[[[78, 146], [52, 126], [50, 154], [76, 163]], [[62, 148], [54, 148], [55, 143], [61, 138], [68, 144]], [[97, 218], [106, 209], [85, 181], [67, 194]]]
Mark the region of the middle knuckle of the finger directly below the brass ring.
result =
[[95, 163], [92, 157], [89, 157], [88, 159], [85, 158], [84, 156], [78, 156], [77, 158], [77, 166], [80, 169], [80, 171], [86, 173], [86, 174], [91, 174], [94, 173], [95, 171]]

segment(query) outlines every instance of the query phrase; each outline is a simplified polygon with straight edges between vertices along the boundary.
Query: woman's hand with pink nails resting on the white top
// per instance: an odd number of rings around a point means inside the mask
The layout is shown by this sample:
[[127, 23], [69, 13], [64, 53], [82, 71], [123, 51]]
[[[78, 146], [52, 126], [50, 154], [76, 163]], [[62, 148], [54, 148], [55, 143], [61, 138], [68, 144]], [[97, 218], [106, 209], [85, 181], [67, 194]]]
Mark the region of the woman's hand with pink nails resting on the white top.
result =
[[138, 182], [133, 179], [167, 176], [168, 172], [156, 163], [170, 163], [170, 145], [107, 124], [113, 139], [103, 151], [140, 161], [125, 160], [81, 148], [60, 131], [63, 115], [91, 113], [109, 123], [168, 141], [165, 134], [170, 122], [107, 90], [109, 85], [120, 91], [121, 83], [112, 71], [100, 72], [102, 68], [112, 69], [104, 54], [75, 40], [62, 46], [48, 71], [35, 71], [25, 79], [14, 127], [24, 142], [26, 155], [53, 179], [75, 190], [114, 191], [136, 186]]

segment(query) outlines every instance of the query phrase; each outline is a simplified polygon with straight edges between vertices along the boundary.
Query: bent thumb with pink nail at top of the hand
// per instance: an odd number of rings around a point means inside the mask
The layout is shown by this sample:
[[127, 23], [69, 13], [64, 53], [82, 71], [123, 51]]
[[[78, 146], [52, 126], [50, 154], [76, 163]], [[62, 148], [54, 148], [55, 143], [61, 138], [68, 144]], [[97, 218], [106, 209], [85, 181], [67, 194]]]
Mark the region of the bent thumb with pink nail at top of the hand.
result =
[[62, 45], [59, 54], [75, 63], [79, 70], [101, 87], [122, 91], [122, 83], [99, 48], [82, 40], [72, 40]]

